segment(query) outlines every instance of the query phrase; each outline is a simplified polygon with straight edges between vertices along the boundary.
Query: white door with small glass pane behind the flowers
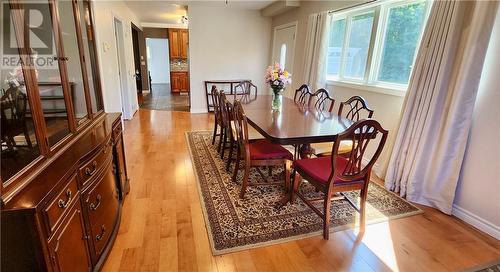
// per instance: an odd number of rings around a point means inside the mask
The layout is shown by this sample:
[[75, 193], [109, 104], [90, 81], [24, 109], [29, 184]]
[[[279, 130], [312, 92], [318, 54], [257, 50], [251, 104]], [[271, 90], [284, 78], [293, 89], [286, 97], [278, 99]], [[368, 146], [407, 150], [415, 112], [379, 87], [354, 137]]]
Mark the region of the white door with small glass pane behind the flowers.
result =
[[297, 24], [286, 24], [274, 29], [273, 63], [277, 62], [293, 74], [293, 56], [295, 54], [295, 33]]

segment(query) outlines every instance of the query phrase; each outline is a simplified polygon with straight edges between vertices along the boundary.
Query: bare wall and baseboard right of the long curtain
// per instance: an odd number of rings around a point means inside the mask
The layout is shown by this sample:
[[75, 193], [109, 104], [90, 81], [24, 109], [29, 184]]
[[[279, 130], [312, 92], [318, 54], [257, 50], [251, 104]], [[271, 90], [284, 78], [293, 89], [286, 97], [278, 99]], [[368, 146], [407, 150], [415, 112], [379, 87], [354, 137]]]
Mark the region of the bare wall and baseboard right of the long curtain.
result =
[[500, 240], [500, 9], [486, 53], [453, 215]]

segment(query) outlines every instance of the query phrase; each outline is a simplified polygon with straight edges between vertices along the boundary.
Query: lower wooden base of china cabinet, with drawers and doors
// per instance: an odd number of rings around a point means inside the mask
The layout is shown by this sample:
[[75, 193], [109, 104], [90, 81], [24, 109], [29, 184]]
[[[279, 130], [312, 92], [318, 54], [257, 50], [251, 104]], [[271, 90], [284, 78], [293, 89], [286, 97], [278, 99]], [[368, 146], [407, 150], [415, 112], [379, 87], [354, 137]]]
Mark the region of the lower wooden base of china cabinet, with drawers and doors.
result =
[[98, 270], [127, 194], [120, 114], [102, 114], [2, 207], [2, 271]]

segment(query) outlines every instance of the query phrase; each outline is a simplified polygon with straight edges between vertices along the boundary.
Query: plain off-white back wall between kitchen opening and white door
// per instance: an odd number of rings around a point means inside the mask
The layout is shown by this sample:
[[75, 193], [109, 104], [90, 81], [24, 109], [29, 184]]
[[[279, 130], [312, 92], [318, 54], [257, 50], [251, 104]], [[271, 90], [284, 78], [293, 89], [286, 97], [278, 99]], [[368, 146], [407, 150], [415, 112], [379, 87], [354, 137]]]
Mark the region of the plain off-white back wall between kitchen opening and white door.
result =
[[216, 3], [190, 3], [188, 13], [191, 112], [207, 111], [205, 80], [249, 78], [261, 92], [271, 19]]

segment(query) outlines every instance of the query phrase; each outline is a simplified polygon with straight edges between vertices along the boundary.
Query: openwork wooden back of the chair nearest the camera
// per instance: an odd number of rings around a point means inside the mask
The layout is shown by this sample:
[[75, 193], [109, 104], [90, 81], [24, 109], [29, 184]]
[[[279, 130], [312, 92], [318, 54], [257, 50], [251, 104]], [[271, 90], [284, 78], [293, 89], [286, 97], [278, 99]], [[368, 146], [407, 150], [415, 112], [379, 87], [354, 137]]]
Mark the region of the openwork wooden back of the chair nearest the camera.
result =
[[[330, 174], [330, 184], [335, 179], [340, 179], [345, 182], [365, 180], [369, 181], [369, 174], [372, 167], [377, 161], [382, 149], [387, 140], [388, 131], [373, 119], [362, 119], [350, 126], [346, 131], [337, 135], [337, 140], [332, 148], [332, 172]], [[336, 166], [337, 157], [340, 156], [339, 147], [343, 140], [352, 141], [351, 151], [347, 159], [347, 164], [344, 169]], [[363, 158], [366, 159], [366, 150], [370, 143], [377, 143], [378, 147], [369, 159], [368, 163], [363, 166]], [[337, 171], [337, 172], [336, 172]], [[367, 178], [368, 177], [368, 178]]]

